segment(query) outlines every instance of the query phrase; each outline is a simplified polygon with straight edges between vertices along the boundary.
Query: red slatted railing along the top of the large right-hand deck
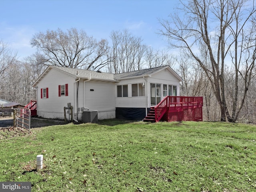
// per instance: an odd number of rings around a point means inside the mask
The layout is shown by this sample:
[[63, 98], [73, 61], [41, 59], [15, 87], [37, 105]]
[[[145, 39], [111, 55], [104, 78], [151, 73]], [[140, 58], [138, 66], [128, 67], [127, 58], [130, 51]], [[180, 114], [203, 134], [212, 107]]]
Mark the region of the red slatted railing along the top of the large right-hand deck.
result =
[[[166, 96], [157, 106], [155, 106], [155, 121], [159, 122], [161, 118], [167, 113], [181, 112], [188, 109], [202, 108], [203, 97], [186, 97], [186, 96]], [[202, 112], [200, 112], [202, 113]], [[201, 115], [201, 114], [200, 114]], [[201, 115], [202, 116], [202, 115]], [[167, 116], [168, 118], [168, 116]], [[202, 117], [200, 117], [202, 119]], [[197, 120], [200, 118], [193, 118]]]

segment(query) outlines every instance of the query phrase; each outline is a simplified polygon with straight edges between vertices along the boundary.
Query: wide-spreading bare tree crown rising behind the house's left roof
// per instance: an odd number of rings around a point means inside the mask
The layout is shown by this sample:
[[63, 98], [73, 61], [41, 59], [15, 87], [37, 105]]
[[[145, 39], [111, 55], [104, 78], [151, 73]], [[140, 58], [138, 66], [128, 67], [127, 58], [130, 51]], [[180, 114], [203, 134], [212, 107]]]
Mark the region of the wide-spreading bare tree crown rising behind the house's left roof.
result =
[[58, 29], [39, 32], [34, 35], [31, 45], [42, 51], [47, 64], [70, 68], [90, 69], [106, 65], [107, 40], [96, 41], [84, 30], [71, 28], [67, 32]]

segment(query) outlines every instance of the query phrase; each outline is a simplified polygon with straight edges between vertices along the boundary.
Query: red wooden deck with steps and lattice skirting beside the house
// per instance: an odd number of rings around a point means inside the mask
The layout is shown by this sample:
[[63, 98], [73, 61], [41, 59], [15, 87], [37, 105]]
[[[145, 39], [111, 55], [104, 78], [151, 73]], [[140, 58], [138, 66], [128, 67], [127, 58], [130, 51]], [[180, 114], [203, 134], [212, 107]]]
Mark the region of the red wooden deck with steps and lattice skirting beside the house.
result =
[[202, 121], [203, 97], [166, 96], [144, 121]]

